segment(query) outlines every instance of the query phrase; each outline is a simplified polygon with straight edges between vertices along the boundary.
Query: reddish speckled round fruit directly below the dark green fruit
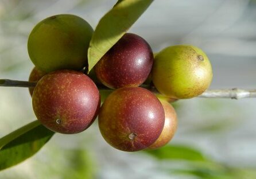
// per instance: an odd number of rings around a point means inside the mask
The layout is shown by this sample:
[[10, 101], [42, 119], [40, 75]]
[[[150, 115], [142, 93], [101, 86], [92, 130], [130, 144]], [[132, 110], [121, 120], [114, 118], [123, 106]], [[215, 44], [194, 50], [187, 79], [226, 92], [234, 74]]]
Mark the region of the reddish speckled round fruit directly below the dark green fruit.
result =
[[82, 72], [61, 70], [38, 81], [32, 96], [34, 114], [48, 129], [75, 134], [86, 130], [98, 115], [99, 90]]

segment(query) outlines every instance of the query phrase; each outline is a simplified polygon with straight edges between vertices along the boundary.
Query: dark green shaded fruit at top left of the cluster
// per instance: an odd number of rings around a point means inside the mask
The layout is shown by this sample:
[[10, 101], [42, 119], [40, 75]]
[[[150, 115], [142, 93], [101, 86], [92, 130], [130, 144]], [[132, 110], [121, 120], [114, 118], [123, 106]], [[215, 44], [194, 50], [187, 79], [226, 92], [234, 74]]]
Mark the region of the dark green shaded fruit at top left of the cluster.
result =
[[94, 30], [80, 17], [59, 14], [39, 22], [29, 35], [28, 53], [44, 72], [80, 70], [87, 62], [87, 50]]

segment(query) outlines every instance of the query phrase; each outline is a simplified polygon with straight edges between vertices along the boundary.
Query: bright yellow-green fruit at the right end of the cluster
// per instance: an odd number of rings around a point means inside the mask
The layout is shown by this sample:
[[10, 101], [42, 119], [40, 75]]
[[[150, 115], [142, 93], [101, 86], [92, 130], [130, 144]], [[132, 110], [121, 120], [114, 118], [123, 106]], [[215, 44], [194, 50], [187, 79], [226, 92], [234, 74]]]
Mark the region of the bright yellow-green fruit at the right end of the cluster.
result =
[[196, 46], [169, 46], [157, 53], [152, 78], [161, 94], [174, 99], [193, 98], [210, 86], [212, 67]]

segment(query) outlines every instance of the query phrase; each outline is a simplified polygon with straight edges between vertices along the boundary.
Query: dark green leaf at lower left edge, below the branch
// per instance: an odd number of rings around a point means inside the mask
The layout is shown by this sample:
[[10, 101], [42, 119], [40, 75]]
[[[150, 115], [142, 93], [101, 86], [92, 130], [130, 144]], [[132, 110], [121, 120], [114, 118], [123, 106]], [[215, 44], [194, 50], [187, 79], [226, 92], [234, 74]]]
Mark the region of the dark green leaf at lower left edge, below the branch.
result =
[[53, 135], [38, 120], [0, 139], [0, 170], [16, 165], [37, 153]]

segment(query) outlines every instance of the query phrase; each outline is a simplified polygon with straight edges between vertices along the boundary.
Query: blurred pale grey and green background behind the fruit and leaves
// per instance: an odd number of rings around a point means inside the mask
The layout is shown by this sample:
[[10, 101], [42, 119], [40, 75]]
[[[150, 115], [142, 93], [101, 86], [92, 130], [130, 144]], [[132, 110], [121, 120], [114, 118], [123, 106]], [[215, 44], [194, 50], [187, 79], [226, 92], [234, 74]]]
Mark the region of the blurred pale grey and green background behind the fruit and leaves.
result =
[[[68, 13], [95, 28], [115, 2], [0, 0], [0, 79], [28, 80], [33, 64], [26, 45], [37, 22]], [[256, 1], [157, 0], [130, 32], [154, 52], [176, 44], [199, 46], [212, 63], [210, 88], [256, 88]], [[255, 104], [253, 98], [179, 100], [173, 103], [176, 135], [152, 152], [114, 149], [95, 122], [80, 134], [56, 134], [0, 178], [256, 178]], [[35, 119], [28, 89], [0, 88], [0, 137]]]

